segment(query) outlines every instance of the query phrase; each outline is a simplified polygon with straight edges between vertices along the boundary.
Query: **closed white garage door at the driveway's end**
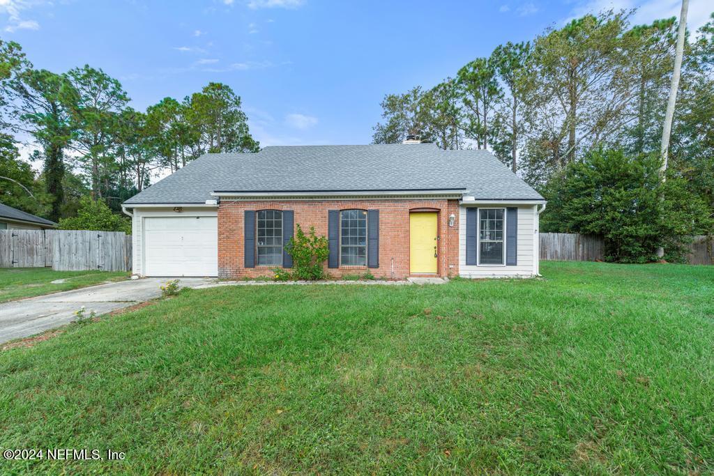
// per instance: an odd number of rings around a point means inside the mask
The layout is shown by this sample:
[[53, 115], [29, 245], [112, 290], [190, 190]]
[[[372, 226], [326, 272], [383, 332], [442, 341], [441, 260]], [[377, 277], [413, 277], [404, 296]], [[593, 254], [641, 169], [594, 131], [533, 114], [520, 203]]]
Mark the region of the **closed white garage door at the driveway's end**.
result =
[[218, 218], [144, 218], [147, 276], [217, 276]]

